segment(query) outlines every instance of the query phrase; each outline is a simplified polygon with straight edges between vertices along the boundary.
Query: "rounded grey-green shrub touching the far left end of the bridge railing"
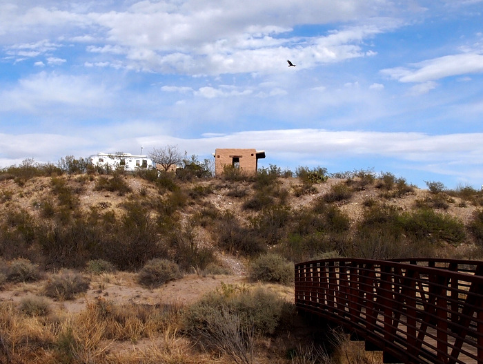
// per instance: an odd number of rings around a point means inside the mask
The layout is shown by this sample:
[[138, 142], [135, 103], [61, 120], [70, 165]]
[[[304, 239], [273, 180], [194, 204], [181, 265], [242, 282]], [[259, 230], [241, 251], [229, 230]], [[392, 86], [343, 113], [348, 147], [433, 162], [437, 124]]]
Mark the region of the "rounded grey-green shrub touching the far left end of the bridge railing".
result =
[[282, 256], [266, 253], [251, 262], [249, 278], [288, 285], [294, 278], [293, 264]]

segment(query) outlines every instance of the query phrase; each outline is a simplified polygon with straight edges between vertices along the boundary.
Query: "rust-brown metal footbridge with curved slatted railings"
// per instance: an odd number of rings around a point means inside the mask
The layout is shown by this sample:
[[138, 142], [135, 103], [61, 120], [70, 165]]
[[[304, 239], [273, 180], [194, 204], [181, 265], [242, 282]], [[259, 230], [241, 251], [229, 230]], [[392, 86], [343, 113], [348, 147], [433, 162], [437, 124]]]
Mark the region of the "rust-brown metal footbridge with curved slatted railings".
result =
[[381, 349], [385, 363], [483, 363], [483, 262], [299, 263], [295, 304]]

